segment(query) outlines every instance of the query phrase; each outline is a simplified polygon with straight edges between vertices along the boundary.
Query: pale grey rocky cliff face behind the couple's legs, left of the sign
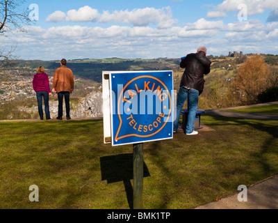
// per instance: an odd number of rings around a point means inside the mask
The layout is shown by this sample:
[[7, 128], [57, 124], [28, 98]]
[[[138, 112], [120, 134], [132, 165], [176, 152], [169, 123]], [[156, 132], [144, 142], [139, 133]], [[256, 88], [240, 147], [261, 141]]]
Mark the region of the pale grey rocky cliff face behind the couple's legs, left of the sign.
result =
[[[42, 109], [44, 111], [44, 104], [42, 104]], [[19, 110], [29, 114], [38, 114], [38, 105], [31, 108], [21, 107]], [[58, 116], [58, 99], [49, 102], [49, 112], [53, 119]], [[102, 114], [102, 93], [99, 91], [89, 93], [85, 98], [80, 98], [77, 103], [70, 100], [71, 118], [99, 118]], [[65, 100], [63, 100], [63, 116], [65, 116]]]

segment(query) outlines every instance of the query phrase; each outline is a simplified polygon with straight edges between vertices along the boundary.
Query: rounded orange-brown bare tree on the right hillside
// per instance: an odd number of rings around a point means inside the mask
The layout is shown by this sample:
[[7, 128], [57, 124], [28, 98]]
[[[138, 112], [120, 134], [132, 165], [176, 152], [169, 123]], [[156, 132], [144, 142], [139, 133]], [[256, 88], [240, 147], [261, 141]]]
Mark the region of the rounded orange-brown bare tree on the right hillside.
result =
[[267, 88], [269, 75], [270, 70], [261, 56], [256, 54], [247, 59], [238, 69], [236, 79], [228, 89], [234, 105], [257, 103], [258, 95]]

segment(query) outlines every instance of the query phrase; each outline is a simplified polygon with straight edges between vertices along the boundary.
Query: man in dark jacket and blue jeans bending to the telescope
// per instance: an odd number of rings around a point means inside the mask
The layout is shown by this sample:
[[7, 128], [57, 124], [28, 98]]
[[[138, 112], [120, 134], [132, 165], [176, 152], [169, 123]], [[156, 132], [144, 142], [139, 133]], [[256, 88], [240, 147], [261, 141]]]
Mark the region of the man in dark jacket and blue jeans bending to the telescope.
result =
[[198, 134], [194, 130], [195, 117], [198, 107], [199, 95], [204, 90], [204, 75], [211, 72], [211, 61], [206, 58], [206, 47], [199, 47], [196, 54], [188, 54], [181, 58], [181, 68], [186, 68], [181, 77], [179, 94], [177, 97], [176, 120], [174, 121], [174, 133], [179, 128], [181, 109], [188, 98], [188, 123], [184, 133], [188, 135]]

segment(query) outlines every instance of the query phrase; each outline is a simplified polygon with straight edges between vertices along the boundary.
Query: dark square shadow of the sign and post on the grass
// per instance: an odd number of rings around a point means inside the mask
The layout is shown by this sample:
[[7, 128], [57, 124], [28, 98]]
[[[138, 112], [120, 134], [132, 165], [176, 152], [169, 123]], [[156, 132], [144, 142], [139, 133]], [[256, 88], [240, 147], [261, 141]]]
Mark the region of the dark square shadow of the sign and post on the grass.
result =
[[[101, 180], [107, 180], [107, 183], [124, 181], [126, 190], [126, 199], [129, 202], [129, 208], [133, 209], [133, 153], [111, 155], [100, 157]], [[144, 162], [143, 176], [150, 176], [147, 165]]]

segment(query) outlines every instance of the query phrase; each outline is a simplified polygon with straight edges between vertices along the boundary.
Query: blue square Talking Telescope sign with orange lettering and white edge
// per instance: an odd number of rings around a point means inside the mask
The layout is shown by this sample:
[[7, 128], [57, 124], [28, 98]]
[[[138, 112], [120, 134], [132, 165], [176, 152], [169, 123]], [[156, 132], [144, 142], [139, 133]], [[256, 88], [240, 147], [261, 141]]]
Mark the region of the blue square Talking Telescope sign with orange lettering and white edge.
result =
[[172, 71], [102, 73], [104, 143], [172, 139]]

